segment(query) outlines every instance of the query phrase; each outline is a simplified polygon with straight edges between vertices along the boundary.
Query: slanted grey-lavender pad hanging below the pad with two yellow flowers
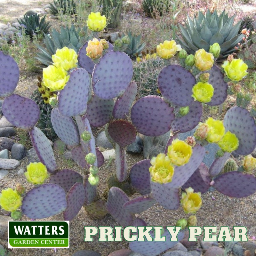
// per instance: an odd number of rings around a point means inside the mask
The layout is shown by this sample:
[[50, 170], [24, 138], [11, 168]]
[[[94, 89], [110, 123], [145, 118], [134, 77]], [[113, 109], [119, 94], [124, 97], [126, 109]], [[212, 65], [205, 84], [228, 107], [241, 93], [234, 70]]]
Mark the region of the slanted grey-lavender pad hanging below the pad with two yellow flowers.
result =
[[53, 108], [51, 121], [54, 131], [67, 145], [76, 146], [80, 144], [79, 132], [71, 117], [62, 116], [58, 108]]

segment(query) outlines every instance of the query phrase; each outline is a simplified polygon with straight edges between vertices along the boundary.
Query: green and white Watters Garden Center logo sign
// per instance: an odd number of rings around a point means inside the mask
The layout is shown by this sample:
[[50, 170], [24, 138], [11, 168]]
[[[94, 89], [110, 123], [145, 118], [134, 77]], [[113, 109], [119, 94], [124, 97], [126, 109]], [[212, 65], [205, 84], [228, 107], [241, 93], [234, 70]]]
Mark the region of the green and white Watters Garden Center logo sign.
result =
[[9, 221], [9, 248], [69, 248], [69, 221]]

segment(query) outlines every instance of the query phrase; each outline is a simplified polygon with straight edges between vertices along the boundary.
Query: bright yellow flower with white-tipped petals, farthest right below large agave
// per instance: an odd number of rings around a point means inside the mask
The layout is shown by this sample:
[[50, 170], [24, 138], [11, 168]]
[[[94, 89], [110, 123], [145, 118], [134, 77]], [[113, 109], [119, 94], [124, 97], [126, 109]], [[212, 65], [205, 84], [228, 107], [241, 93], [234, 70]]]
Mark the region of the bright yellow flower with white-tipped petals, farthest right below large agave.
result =
[[224, 68], [226, 75], [232, 81], [240, 81], [248, 74], [246, 71], [248, 66], [241, 59], [233, 59], [231, 62], [226, 60], [221, 67]]

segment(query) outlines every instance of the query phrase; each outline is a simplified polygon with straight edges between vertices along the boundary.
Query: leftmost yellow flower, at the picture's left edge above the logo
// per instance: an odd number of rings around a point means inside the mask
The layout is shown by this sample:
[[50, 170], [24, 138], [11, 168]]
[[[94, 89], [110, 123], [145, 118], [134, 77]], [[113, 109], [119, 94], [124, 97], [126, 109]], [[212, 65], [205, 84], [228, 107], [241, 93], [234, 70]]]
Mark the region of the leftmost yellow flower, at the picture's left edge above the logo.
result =
[[22, 204], [21, 196], [12, 188], [3, 189], [0, 194], [0, 206], [8, 212], [16, 211]]

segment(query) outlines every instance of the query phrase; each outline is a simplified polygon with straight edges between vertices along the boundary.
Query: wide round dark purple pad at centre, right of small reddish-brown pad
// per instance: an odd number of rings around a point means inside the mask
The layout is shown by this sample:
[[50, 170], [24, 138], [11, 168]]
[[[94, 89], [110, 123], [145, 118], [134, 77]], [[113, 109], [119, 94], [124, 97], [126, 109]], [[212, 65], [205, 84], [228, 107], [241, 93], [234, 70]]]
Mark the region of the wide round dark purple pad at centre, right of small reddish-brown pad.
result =
[[147, 136], [159, 136], [171, 129], [173, 108], [159, 96], [145, 96], [132, 106], [131, 119], [137, 131]]

